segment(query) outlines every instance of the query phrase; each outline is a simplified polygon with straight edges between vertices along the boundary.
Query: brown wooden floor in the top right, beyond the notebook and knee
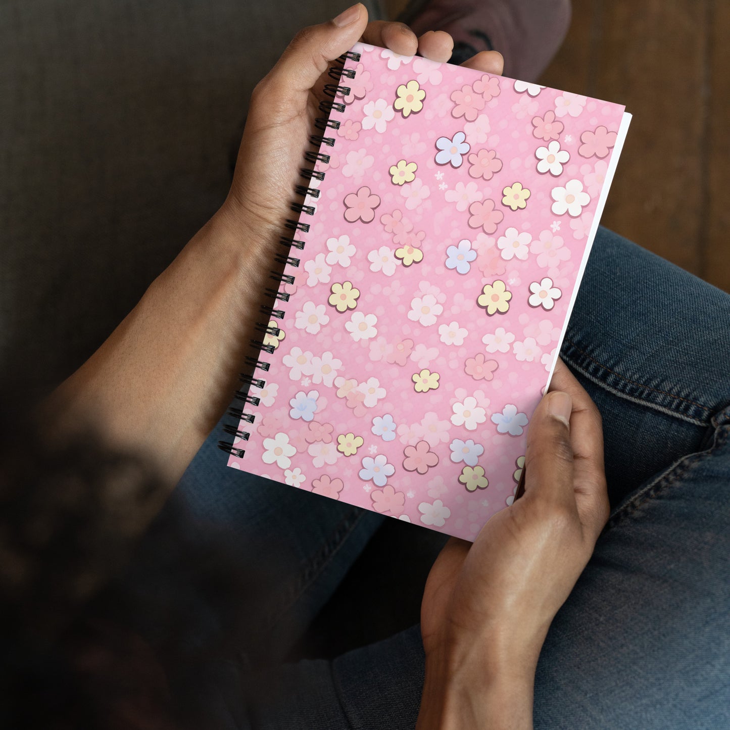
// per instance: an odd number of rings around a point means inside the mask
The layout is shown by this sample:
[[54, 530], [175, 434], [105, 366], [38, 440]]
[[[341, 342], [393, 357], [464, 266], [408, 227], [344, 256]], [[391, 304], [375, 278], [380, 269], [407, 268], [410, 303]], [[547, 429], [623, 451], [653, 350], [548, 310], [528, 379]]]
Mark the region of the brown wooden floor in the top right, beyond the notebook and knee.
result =
[[726, 291], [728, 37], [729, 0], [574, 0], [568, 36], [540, 79], [634, 115], [604, 226]]

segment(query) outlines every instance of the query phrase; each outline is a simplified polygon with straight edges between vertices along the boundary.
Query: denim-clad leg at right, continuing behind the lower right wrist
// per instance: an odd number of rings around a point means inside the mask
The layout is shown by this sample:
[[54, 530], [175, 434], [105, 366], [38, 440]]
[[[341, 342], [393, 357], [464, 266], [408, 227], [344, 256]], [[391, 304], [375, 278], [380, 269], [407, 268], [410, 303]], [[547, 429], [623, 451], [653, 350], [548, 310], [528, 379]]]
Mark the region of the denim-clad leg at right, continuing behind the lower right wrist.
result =
[[[728, 321], [730, 296], [599, 231], [563, 355], [602, 410], [612, 515], [540, 655], [536, 728], [730, 725]], [[257, 729], [413, 727], [418, 626], [245, 682]]]

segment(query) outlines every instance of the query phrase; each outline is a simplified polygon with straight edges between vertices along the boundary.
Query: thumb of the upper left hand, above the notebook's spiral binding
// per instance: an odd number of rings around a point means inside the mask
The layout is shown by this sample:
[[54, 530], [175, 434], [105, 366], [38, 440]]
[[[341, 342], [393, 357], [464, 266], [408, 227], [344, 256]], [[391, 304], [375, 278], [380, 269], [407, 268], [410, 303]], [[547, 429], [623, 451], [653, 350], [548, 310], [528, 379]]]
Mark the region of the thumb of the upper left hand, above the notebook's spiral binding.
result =
[[357, 3], [328, 23], [303, 28], [266, 75], [271, 101], [303, 106], [307, 93], [331, 61], [349, 50], [367, 26], [367, 9]]

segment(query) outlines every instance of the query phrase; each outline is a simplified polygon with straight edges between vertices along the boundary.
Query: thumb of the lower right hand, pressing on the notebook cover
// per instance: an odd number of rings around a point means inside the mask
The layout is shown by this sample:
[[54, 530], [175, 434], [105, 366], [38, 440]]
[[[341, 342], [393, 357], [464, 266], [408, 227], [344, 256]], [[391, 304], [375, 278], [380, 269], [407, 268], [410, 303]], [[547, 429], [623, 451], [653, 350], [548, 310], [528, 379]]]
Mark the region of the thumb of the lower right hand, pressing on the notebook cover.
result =
[[574, 512], [571, 410], [571, 397], [561, 391], [548, 393], [535, 409], [527, 431], [525, 498]]

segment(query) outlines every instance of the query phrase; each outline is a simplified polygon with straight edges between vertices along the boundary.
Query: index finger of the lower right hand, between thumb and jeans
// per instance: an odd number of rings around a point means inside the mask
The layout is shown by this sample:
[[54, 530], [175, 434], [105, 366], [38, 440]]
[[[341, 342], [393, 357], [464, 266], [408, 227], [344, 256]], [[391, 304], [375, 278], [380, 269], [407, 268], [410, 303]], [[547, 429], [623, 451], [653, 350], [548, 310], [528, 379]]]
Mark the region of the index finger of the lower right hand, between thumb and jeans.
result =
[[603, 457], [601, 414], [591, 396], [558, 358], [550, 381], [550, 391], [569, 393], [572, 399], [570, 442], [575, 473], [573, 485], [581, 520], [596, 529], [603, 529], [610, 513]]

